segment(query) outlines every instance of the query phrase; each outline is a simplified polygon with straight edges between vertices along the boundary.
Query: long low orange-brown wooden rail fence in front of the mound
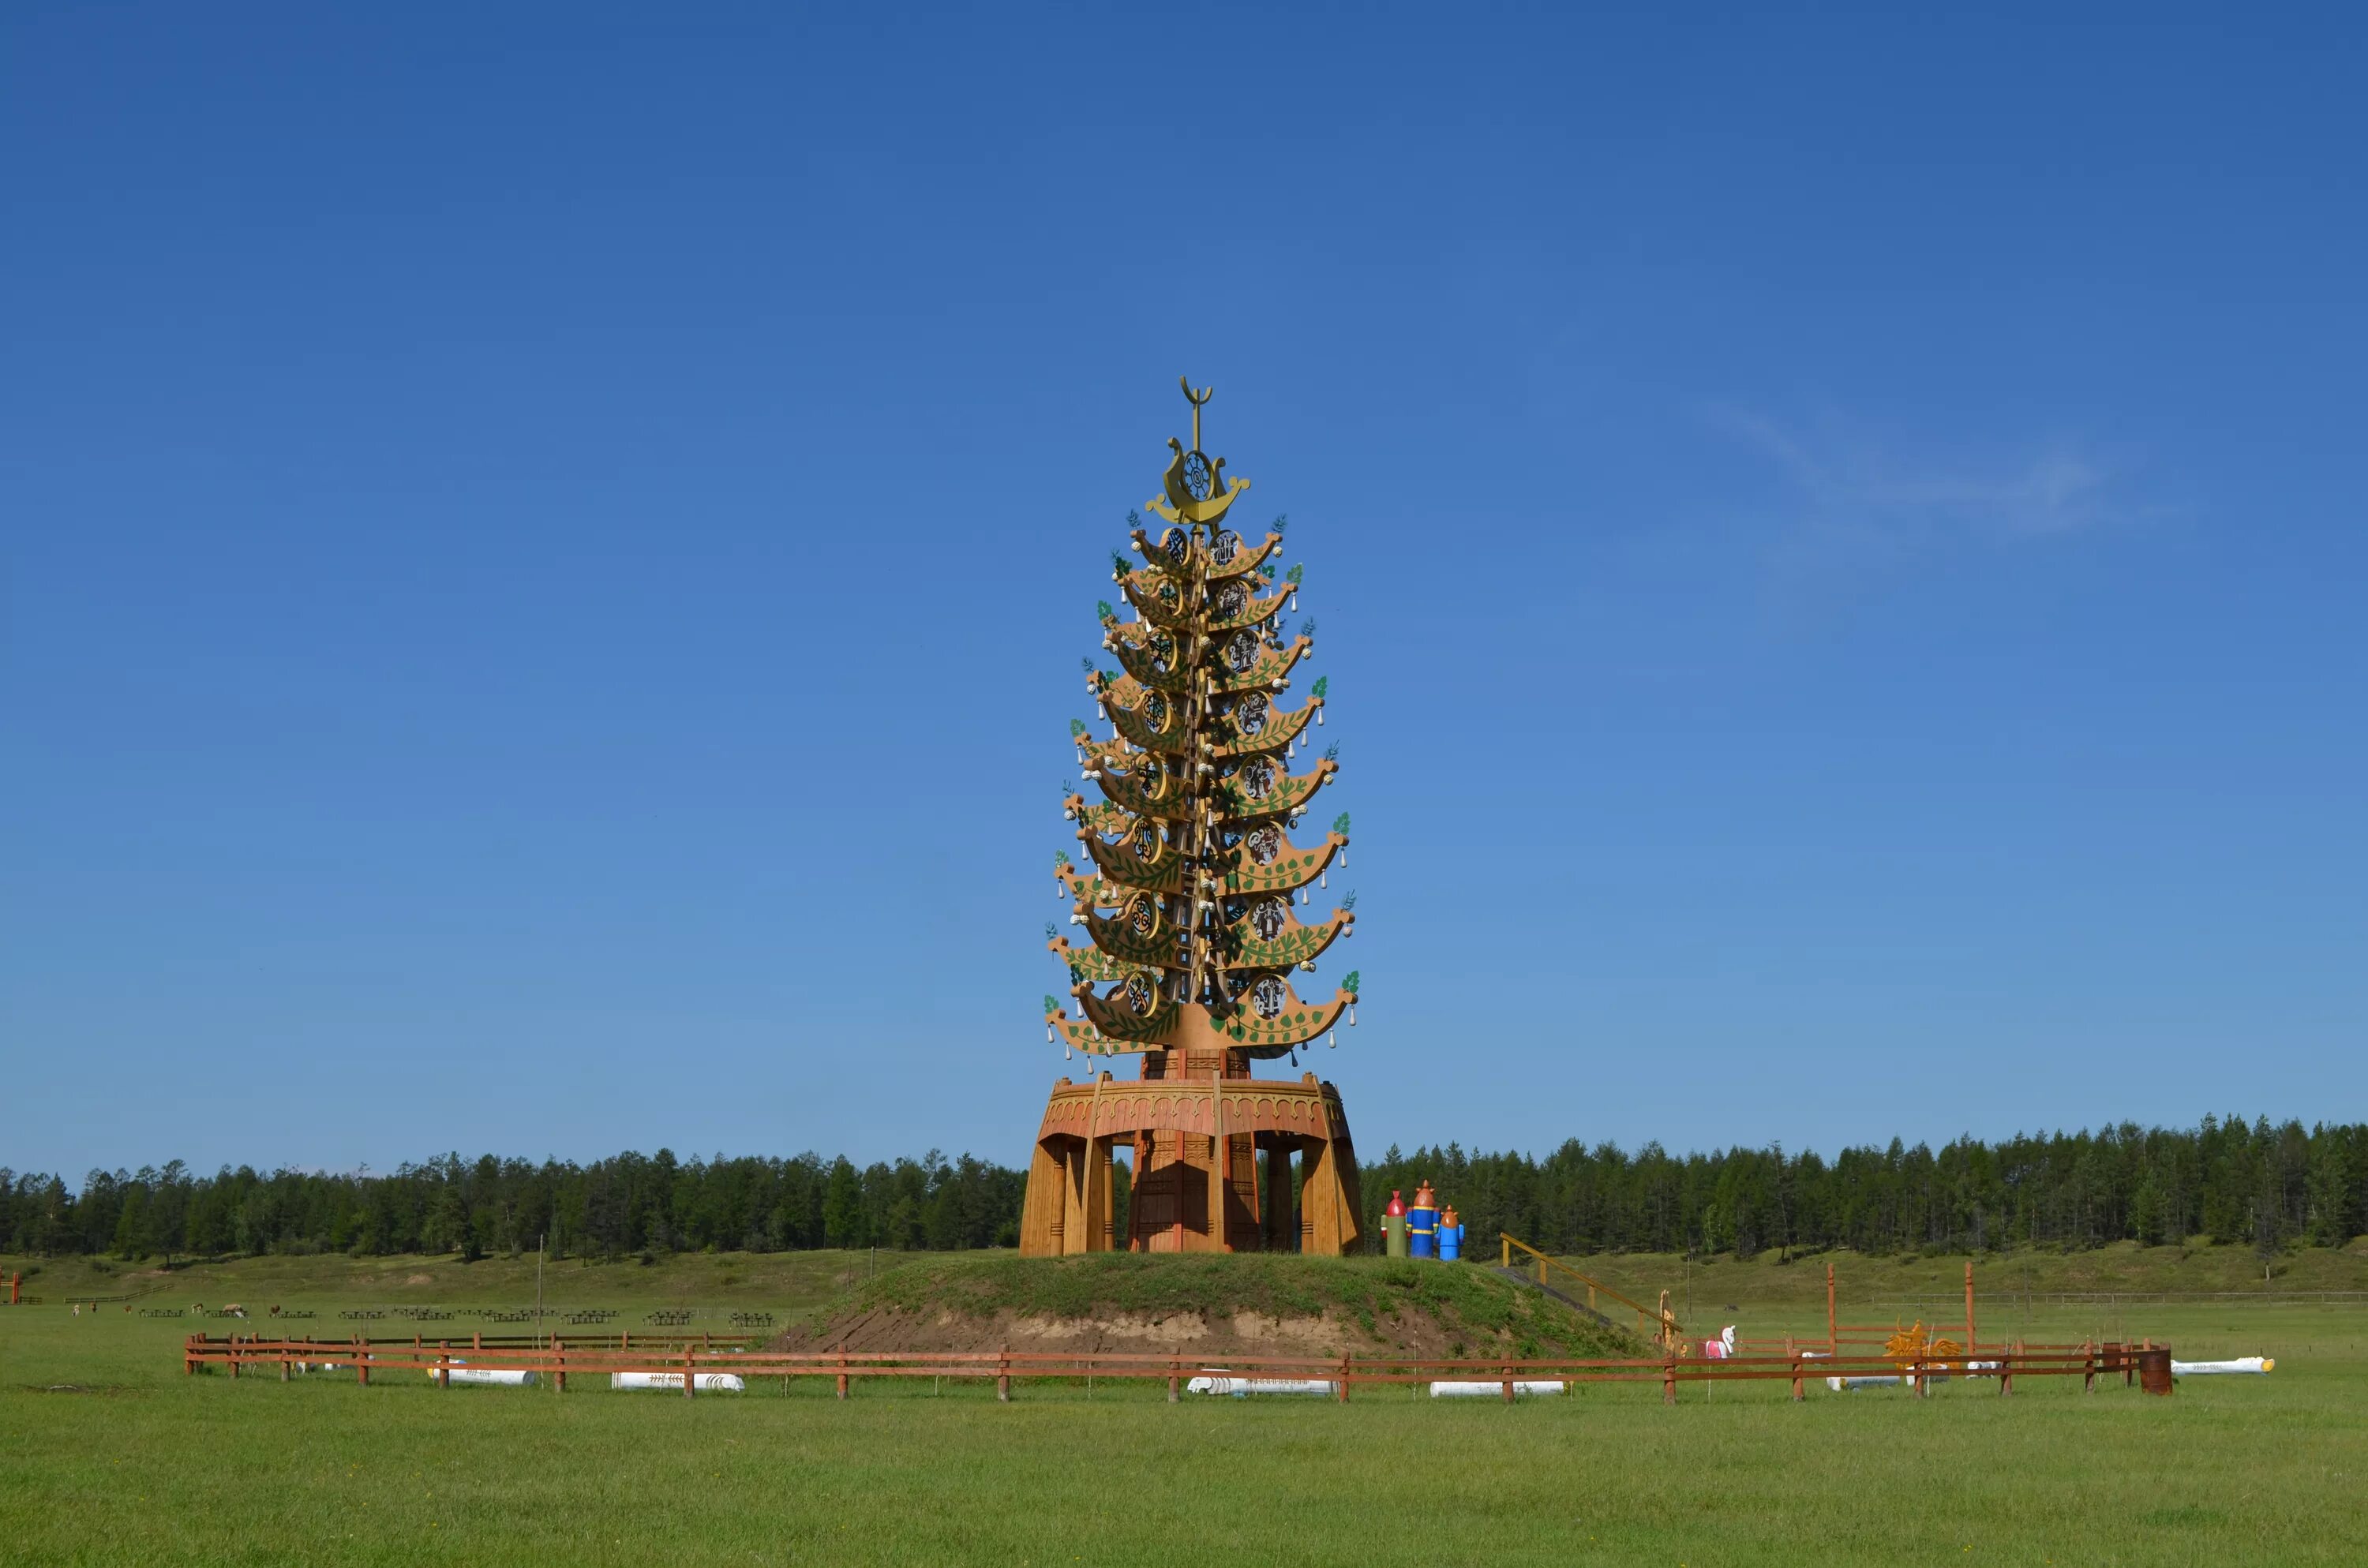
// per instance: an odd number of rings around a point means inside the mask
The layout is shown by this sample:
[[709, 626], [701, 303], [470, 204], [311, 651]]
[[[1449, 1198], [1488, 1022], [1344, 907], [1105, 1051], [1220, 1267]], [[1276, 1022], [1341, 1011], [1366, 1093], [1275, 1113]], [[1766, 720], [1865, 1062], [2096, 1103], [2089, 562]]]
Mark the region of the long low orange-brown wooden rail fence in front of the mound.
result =
[[424, 1371], [440, 1386], [450, 1386], [457, 1369], [476, 1371], [533, 1371], [549, 1388], [566, 1390], [568, 1376], [597, 1374], [654, 1374], [682, 1379], [682, 1393], [696, 1395], [706, 1374], [739, 1374], [784, 1379], [834, 1379], [838, 1397], [848, 1397], [862, 1379], [995, 1379], [997, 1397], [1011, 1397], [1014, 1379], [1134, 1379], [1167, 1381], [1167, 1397], [1177, 1397], [1182, 1383], [1201, 1374], [1250, 1376], [1250, 1379], [1302, 1379], [1326, 1383], [1324, 1393], [1347, 1400], [1352, 1388], [1407, 1386], [1433, 1381], [1501, 1383], [1504, 1397], [1513, 1397], [1516, 1383], [1660, 1383], [1662, 1400], [1674, 1402], [1679, 1383], [1736, 1383], [1785, 1379], [1793, 1397], [1800, 1400], [1807, 1383], [1819, 1379], [1902, 1379], [1913, 1393], [1930, 1393], [1939, 1379], [1996, 1379], [1999, 1393], [2013, 1393], [2015, 1379], [2027, 1376], [2079, 1376], [2086, 1388], [2096, 1379], [2115, 1371], [2124, 1381], [2143, 1374], [2150, 1393], [2169, 1393], [2171, 1362], [2167, 1348], [2138, 1348], [2126, 1343], [2089, 1343], [2072, 1348], [2010, 1348], [1987, 1350], [1973, 1357], [1890, 1357], [1871, 1352], [1826, 1355], [1816, 1350], [1793, 1350], [1788, 1355], [1736, 1355], [1726, 1360], [1703, 1360], [1686, 1355], [1617, 1357], [1617, 1360], [1489, 1360], [1489, 1357], [1236, 1357], [1222, 1367], [1210, 1367], [1179, 1355], [1122, 1355], [1122, 1352], [1028, 1352], [1028, 1350], [945, 1350], [945, 1352], [855, 1352], [855, 1350], [715, 1350], [696, 1343], [699, 1336], [635, 1336], [632, 1343], [568, 1343], [549, 1338], [535, 1343], [474, 1343], [417, 1338], [263, 1338], [230, 1336], [213, 1338], [192, 1334], [182, 1345], [182, 1371], [211, 1371], [223, 1367], [230, 1376], [242, 1371], [277, 1371], [287, 1381], [298, 1367], [353, 1371], [360, 1383], [369, 1383], [381, 1371]]

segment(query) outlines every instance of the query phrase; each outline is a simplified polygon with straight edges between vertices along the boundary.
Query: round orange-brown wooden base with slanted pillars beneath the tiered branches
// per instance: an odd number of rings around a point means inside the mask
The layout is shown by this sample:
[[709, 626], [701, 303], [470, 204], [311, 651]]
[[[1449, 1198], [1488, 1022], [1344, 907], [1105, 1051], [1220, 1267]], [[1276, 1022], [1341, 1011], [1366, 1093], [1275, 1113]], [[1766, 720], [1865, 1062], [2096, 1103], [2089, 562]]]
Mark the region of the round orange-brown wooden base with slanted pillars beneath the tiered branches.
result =
[[[1314, 1073], [1250, 1078], [1241, 1054], [1229, 1056], [1234, 1073], [1212, 1063], [1175, 1078], [1101, 1073], [1054, 1085], [1028, 1165], [1021, 1255], [1357, 1251], [1357, 1151], [1340, 1092]], [[1134, 1153], [1125, 1234], [1111, 1177], [1120, 1144]]]

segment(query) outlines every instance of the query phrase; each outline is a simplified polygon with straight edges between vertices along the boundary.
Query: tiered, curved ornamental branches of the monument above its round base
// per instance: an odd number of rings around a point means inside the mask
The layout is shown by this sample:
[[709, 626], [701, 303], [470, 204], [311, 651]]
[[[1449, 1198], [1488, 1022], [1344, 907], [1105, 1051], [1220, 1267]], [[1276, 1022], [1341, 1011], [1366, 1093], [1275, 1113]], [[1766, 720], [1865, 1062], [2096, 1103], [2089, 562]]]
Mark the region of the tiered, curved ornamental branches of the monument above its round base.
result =
[[1113, 554], [1122, 618], [1101, 604], [1101, 647], [1115, 670], [1087, 661], [1087, 692], [1106, 730], [1070, 725], [1077, 765], [1099, 796], [1070, 793], [1085, 855], [1056, 857], [1085, 943], [1051, 933], [1068, 966], [1077, 1014], [1044, 1000], [1044, 1026], [1089, 1054], [1158, 1052], [1191, 1014], [1248, 1056], [1281, 1056], [1354, 1023], [1357, 976], [1321, 1002], [1302, 1002], [1286, 978], [1354, 933], [1354, 898], [1302, 921], [1310, 900], [1347, 850], [1347, 815], [1321, 841], [1293, 829], [1340, 765], [1331, 751], [1307, 772], [1291, 758], [1324, 718], [1324, 687], [1279, 706], [1291, 675], [1314, 651], [1314, 623], [1283, 640], [1300, 571], [1276, 571], [1286, 521], [1260, 545], [1224, 528], [1248, 481], [1170, 441], [1163, 495], [1148, 507], [1167, 526], [1134, 521], [1141, 566]]

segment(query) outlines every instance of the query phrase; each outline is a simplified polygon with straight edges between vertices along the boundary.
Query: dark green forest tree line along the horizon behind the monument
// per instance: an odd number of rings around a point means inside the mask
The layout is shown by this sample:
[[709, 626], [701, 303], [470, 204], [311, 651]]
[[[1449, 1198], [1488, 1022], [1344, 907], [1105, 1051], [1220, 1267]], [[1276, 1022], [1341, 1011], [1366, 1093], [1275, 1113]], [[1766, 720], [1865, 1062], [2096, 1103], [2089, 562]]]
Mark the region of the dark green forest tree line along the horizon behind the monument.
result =
[[[1854, 1146], [1667, 1153], [1568, 1142], [1544, 1158], [1392, 1146], [1362, 1172], [1364, 1232], [1428, 1180], [1473, 1246], [1511, 1232], [1553, 1253], [1861, 1253], [2089, 1248], [2209, 1236], [2264, 1253], [2368, 1232], [2368, 1125], [2207, 1116], [2198, 1127]], [[931, 1151], [855, 1165], [691, 1158], [661, 1149], [590, 1165], [457, 1153], [393, 1172], [194, 1175], [180, 1161], [57, 1175], [0, 1168], [0, 1253], [213, 1258], [459, 1253], [628, 1258], [673, 1251], [1014, 1246], [1025, 1172]], [[1125, 1206], [1125, 1172], [1118, 1199]], [[1120, 1234], [1125, 1234], [1120, 1213]]]

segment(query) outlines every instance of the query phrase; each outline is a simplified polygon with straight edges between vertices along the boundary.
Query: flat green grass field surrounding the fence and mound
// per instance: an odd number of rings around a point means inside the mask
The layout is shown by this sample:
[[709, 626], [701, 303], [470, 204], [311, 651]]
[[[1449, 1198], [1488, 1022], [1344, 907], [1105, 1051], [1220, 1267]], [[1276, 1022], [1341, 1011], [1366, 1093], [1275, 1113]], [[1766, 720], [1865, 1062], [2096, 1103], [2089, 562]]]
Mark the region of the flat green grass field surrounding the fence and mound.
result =
[[[2242, 1255], [2034, 1260], [2110, 1289], [2219, 1289]], [[1660, 1260], [1579, 1260], [1650, 1284]], [[1823, 1260], [1693, 1272], [1705, 1331], [1809, 1329]], [[1845, 1319], [1951, 1298], [1961, 1265], [1840, 1258]], [[2304, 1260], [2309, 1262], [2309, 1260]], [[2314, 1270], [2325, 1286], [2354, 1258]], [[0, 1260], [0, 1272], [12, 1267]], [[869, 1258], [564, 1265], [568, 1303], [826, 1310]], [[1684, 1267], [1684, 1265], [1679, 1265]], [[2299, 1267], [2299, 1262], [2297, 1262]], [[1984, 1265], [1987, 1277], [1989, 1265]], [[1563, 1400], [1347, 1405], [1156, 1388], [755, 1386], [680, 1400], [436, 1390], [426, 1379], [180, 1376], [189, 1329], [107, 1307], [0, 1307], [0, 1561], [24, 1563], [2359, 1563], [2368, 1559], [2368, 1305], [2003, 1300], [1984, 1336], [2077, 1338], [2126, 1322], [2186, 1355], [2269, 1350], [2269, 1379], [2188, 1379], [2169, 1400], [2029, 1379], [1790, 1405], [1781, 1383], [1587, 1388]], [[130, 1270], [43, 1265], [52, 1303]], [[1928, 1279], [1928, 1274], [1937, 1279]], [[722, 1284], [725, 1279], [732, 1284]], [[2311, 1274], [2314, 1279], [2318, 1274]], [[533, 1260], [246, 1260], [135, 1305], [239, 1296], [533, 1300]], [[1852, 1279], [1866, 1291], [1854, 1291]], [[2257, 1279], [2257, 1267], [2254, 1267]], [[1681, 1277], [1669, 1279], [1684, 1289]], [[2280, 1286], [2287, 1277], [2278, 1279]], [[270, 1286], [270, 1289], [265, 1289]], [[1705, 1289], [1707, 1286], [1707, 1289]], [[1984, 1289], [1989, 1289], [1984, 1284]], [[547, 1298], [561, 1293], [545, 1277]], [[1724, 1312], [1736, 1303], [1736, 1312]], [[1930, 1312], [1942, 1317], [1946, 1312]], [[239, 1324], [242, 1329], [253, 1324]], [[223, 1331], [225, 1324], [206, 1324]], [[388, 1319], [374, 1331], [393, 1334]]]

